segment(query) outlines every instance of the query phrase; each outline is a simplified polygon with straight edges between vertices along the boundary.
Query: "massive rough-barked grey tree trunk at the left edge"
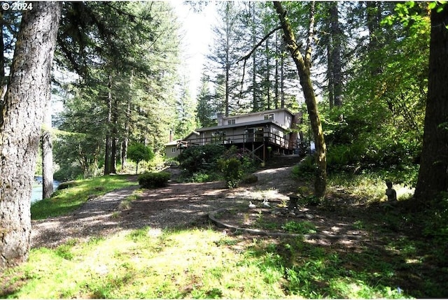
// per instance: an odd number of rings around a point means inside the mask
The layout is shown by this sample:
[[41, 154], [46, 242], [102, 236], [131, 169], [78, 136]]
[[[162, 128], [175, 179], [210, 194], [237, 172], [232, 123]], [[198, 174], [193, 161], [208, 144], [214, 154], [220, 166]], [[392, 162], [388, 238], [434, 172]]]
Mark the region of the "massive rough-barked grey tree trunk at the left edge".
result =
[[22, 15], [0, 115], [0, 269], [24, 262], [31, 236], [30, 197], [50, 93], [61, 2], [32, 2]]

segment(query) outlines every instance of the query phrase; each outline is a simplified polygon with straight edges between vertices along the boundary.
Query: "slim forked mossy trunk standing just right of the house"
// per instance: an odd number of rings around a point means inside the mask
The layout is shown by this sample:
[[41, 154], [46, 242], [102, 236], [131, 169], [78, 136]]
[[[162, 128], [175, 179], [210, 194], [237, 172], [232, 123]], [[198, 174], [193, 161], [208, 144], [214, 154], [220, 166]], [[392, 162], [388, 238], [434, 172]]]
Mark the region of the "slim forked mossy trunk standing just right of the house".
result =
[[300, 53], [300, 45], [297, 45], [293, 29], [289, 21], [286, 19], [286, 11], [283, 10], [279, 1], [274, 1], [274, 7], [279, 15], [281, 27], [285, 34], [285, 41], [287, 48], [293, 57], [297, 72], [299, 73], [300, 85], [302, 86], [305, 103], [309, 114], [309, 121], [311, 122], [311, 130], [314, 136], [314, 145], [316, 147], [316, 173], [314, 180], [314, 194], [319, 199], [325, 197], [326, 182], [327, 182], [327, 147], [325, 145], [325, 138], [323, 136], [322, 124], [319, 117], [316, 97], [314, 94], [314, 87], [311, 83], [311, 41], [312, 33], [314, 31], [314, 2], [311, 3], [311, 10], [309, 16], [309, 31], [307, 36], [307, 49], [304, 57]]

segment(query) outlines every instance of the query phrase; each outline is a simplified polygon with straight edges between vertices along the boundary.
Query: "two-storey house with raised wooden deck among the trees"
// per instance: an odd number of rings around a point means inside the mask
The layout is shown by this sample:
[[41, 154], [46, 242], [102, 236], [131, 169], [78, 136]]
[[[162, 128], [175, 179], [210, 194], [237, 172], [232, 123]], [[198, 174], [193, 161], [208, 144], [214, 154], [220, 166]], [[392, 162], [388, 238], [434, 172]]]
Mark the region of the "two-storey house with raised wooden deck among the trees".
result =
[[[298, 148], [297, 132], [292, 131], [300, 123], [301, 114], [293, 114], [286, 108], [265, 110], [245, 115], [223, 117], [218, 114], [218, 125], [196, 129], [191, 134], [176, 141], [179, 152], [186, 147], [209, 143], [235, 145], [252, 152], [265, 162], [274, 154], [293, 154]], [[174, 143], [168, 143], [167, 156], [175, 156], [168, 150]], [[171, 151], [172, 153], [169, 153]]]

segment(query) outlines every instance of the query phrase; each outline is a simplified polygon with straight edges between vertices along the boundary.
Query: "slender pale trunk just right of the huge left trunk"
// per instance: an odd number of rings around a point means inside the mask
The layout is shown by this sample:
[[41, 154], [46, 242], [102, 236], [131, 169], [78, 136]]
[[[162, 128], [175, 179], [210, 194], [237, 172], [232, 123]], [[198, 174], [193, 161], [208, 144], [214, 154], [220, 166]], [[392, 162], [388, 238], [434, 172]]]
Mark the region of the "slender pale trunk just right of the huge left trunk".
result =
[[[50, 95], [48, 95], [50, 96]], [[50, 99], [45, 109], [42, 126], [42, 199], [50, 198], [53, 192], [53, 152], [51, 138]]]

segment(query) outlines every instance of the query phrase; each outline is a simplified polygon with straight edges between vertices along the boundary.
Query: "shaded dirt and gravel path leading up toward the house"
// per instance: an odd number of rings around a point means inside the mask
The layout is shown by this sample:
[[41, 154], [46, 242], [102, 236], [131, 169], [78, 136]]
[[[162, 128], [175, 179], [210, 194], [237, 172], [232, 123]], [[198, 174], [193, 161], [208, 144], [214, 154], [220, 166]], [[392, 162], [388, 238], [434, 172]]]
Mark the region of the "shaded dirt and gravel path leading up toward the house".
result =
[[[290, 171], [290, 167], [258, 171], [255, 173], [257, 183], [233, 190], [224, 188], [221, 182], [170, 183], [168, 187], [144, 190], [141, 198], [133, 201], [127, 210], [120, 210], [120, 202], [137, 187], [116, 190], [87, 201], [70, 215], [33, 221], [31, 245], [55, 247], [71, 238], [88, 240], [92, 236], [107, 236], [145, 226], [165, 229], [200, 225], [208, 222], [208, 214], [212, 211], [237, 205], [245, 207], [248, 201], [260, 204], [262, 199], [268, 199], [272, 206], [276, 206], [288, 200], [287, 194], [297, 191], [297, 183], [291, 178]], [[251, 211], [246, 215], [257, 217], [255, 213]], [[337, 234], [353, 235], [355, 232], [358, 236], [365, 236], [359, 230], [353, 231], [351, 224], [354, 219], [348, 215], [312, 208], [307, 209], [307, 214], [312, 216], [319, 231], [328, 235], [328, 238], [321, 238], [321, 243], [332, 243]], [[233, 220], [235, 217], [242, 218], [244, 213], [230, 215], [223, 222], [238, 224], [238, 220]], [[278, 219], [275, 215], [271, 217]], [[287, 216], [287, 220], [295, 219]]]

